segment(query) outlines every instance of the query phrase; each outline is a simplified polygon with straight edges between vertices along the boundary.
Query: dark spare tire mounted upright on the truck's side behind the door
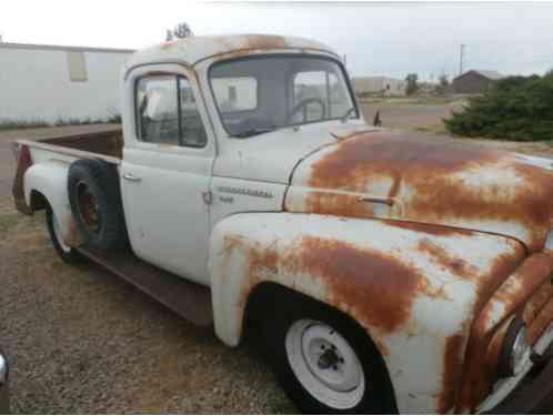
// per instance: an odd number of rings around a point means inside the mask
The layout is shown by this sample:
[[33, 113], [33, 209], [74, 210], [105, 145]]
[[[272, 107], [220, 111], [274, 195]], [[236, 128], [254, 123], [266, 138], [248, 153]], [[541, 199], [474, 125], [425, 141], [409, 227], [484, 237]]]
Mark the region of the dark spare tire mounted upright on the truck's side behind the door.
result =
[[71, 164], [68, 195], [77, 227], [84, 245], [120, 248], [127, 242], [117, 169], [97, 159], [81, 159]]

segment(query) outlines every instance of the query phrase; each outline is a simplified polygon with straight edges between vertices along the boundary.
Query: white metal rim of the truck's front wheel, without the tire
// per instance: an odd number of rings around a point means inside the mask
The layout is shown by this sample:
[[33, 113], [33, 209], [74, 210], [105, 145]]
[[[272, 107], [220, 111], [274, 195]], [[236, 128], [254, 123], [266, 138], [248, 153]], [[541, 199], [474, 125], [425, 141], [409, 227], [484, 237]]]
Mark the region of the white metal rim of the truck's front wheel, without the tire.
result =
[[365, 393], [365, 375], [348, 341], [326, 324], [293, 323], [286, 356], [295, 377], [319, 402], [335, 409], [355, 407]]

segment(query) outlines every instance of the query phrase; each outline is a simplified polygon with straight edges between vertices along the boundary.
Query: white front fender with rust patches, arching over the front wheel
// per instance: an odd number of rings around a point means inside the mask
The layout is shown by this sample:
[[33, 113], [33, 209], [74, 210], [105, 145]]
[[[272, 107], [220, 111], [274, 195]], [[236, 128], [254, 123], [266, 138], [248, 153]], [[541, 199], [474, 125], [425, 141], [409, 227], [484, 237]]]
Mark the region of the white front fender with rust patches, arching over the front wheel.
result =
[[210, 253], [215, 332], [225, 343], [240, 342], [252, 290], [274, 282], [366, 329], [400, 410], [443, 413], [454, 404], [479, 294], [505, 270], [497, 262], [515, 264], [524, 250], [506, 237], [413, 223], [248, 213], [218, 224]]

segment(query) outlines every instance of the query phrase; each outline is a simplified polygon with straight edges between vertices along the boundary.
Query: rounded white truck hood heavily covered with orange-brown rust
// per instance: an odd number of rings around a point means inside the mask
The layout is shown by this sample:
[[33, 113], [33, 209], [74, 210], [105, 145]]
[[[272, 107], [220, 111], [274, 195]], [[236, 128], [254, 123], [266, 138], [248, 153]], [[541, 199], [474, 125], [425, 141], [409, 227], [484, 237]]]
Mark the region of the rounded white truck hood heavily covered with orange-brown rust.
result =
[[298, 163], [286, 211], [439, 224], [543, 248], [553, 219], [553, 161], [355, 129], [331, 134], [333, 142]]

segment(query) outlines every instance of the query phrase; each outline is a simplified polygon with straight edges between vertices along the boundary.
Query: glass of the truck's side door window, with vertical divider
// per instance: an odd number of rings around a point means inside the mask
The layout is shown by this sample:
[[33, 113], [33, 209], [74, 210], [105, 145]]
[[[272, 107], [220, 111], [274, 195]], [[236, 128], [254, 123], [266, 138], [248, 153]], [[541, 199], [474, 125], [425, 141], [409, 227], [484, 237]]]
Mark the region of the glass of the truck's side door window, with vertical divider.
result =
[[142, 78], [137, 83], [135, 101], [140, 141], [192, 148], [205, 145], [203, 122], [185, 78]]

